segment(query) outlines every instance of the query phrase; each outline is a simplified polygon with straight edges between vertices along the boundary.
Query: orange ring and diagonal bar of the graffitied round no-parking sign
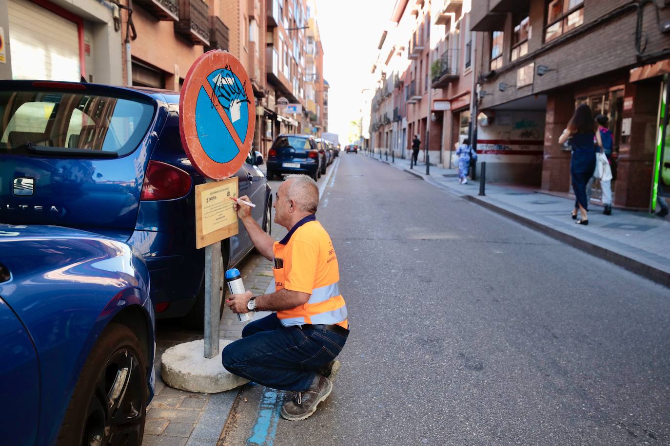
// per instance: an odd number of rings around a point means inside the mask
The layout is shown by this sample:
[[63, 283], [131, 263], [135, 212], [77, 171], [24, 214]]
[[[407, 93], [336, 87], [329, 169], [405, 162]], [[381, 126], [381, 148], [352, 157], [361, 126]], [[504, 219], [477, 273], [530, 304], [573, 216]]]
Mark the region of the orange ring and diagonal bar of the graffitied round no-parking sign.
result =
[[[228, 128], [228, 132], [230, 132], [232, 139], [240, 151], [235, 158], [229, 162], [222, 163], [212, 160], [200, 144], [196, 126], [196, 104], [198, 103], [198, 94], [200, 93], [201, 86], [208, 93], [211, 94], [212, 92], [206, 81], [207, 76], [214, 70], [228, 67], [239, 78], [245, 88], [247, 98], [249, 98], [247, 107], [249, 109], [249, 121], [245, 142], [243, 143], [237, 135], [235, 128], [232, 127], [232, 123], [226, 112], [224, 112], [219, 104], [215, 104], [216, 110], [218, 110], [224, 125]], [[184, 146], [186, 156], [188, 156], [194, 168], [205, 177], [214, 180], [222, 180], [235, 175], [247, 159], [256, 128], [256, 101], [253, 96], [251, 79], [249, 79], [249, 74], [247, 74], [247, 70], [245, 70], [240, 61], [231, 53], [228, 53], [228, 51], [221, 51], [220, 49], [213, 49], [201, 55], [189, 68], [184, 78], [184, 86], [179, 98], [179, 116], [182, 146]]]

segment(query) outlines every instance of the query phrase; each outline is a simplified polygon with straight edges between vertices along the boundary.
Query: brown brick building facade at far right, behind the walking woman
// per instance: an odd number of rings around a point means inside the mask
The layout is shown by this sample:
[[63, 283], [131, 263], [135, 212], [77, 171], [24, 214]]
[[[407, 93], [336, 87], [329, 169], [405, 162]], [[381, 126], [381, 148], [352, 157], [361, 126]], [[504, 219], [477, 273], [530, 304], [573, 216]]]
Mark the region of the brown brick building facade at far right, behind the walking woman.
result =
[[[586, 103], [610, 118], [614, 205], [649, 207], [667, 70], [636, 82], [631, 70], [670, 57], [670, 35], [661, 30], [667, 19], [670, 8], [653, 2], [472, 0], [472, 29], [484, 36], [478, 108], [482, 122], [499, 130], [478, 151], [503, 160], [530, 152], [530, 162], [501, 171], [567, 193], [570, 151], [557, 140], [576, 106]], [[523, 144], [537, 137], [539, 144]], [[510, 150], [515, 142], [518, 150]]]

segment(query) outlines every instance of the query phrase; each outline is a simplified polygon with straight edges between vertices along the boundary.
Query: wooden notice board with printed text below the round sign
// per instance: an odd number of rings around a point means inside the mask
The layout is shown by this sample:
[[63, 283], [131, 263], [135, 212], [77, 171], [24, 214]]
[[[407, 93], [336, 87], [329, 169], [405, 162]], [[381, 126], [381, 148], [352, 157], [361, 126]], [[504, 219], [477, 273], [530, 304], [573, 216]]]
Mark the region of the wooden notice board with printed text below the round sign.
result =
[[232, 207], [237, 198], [237, 177], [196, 185], [196, 248], [237, 235], [237, 213]]

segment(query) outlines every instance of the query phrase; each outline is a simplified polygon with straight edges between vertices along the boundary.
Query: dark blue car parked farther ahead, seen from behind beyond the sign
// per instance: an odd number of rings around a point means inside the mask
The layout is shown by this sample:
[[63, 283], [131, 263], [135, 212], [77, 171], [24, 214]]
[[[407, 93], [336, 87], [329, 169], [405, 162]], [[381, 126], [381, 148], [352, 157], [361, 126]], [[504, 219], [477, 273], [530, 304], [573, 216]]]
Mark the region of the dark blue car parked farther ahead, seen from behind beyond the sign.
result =
[[313, 136], [281, 134], [267, 152], [267, 179], [275, 175], [304, 173], [318, 180], [326, 173], [326, 163]]

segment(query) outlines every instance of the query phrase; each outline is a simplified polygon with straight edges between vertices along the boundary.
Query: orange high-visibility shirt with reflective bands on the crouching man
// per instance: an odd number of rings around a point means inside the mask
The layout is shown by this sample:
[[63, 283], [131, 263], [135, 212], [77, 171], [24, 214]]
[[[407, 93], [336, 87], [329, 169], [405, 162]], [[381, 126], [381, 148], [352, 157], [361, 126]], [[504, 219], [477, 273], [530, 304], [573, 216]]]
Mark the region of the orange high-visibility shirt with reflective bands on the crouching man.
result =
[[340, 270], [330, 236], [314, 215], [295, 224], [273, 245], [275, 290], [310, 294], [310, 300], [277, 312], [283, 326], [336, 324], [348, 328], [346, 304], [340, 294]]

